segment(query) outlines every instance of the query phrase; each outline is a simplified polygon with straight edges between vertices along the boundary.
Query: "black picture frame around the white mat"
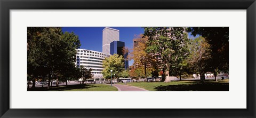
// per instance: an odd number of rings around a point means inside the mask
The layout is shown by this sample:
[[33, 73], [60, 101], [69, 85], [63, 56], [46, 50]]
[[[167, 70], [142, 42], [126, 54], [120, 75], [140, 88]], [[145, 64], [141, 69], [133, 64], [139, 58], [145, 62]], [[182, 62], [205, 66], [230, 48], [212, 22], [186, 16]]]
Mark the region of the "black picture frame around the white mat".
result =
[[[255, 117], [255, 0], [0, 0], [0, 116], [1, 117]], [[10, 10], [185, 9], [246, 10], [246, 109], [11, 109]], [[195, 102], [195, 101], [194, 101]], [[200, 103], [200, 101], [197, 101]], [[125, 103], [122, 103], [125, 104]]]

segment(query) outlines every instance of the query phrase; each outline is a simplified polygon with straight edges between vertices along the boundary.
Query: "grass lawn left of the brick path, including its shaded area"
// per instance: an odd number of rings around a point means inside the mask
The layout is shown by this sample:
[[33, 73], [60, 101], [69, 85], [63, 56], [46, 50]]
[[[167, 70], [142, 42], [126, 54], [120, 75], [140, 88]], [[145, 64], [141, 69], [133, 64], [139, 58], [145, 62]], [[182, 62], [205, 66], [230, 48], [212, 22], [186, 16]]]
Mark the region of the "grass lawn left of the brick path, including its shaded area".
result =
[[68, 85], [58, 87], [38, 87], [29, 88], [28, 91], [117, 91], [118, 89], [113, 86], [105, 84], [86, 84], [86, 85]]

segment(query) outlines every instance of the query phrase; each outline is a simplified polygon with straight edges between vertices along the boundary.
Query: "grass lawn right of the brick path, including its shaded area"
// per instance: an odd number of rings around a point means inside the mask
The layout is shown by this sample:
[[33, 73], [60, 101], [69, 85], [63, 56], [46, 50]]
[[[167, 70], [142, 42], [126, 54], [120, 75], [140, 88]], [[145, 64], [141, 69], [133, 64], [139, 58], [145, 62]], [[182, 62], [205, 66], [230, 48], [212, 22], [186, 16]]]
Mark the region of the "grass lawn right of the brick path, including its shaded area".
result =
[[[118, 83], [123, 84], [123, 83]], [[164, 82], [140, 82], [140, 83], [127, 83], [130, 86], [137, 86], [151, 91], [228, 91], [229, 80], [205, 80], [201, 83], [199, 80], [182, 80], [171, 81], [170, 83]]]

